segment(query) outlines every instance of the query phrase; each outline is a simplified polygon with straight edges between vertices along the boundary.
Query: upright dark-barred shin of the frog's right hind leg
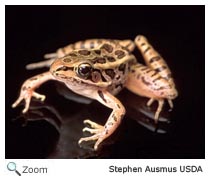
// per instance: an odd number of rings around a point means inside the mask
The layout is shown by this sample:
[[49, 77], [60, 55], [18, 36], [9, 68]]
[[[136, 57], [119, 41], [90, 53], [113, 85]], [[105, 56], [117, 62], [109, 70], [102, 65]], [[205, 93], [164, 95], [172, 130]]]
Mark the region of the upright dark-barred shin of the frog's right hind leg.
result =
[[140, 50], [147, 66], [159, 73], [160, 76], [165, 78], [172, 86], [175, 86], [171, 76], [171, 70], [162, 56], [147, 41], [146, 37], [138, 35], [135, 38], [135, 44]]

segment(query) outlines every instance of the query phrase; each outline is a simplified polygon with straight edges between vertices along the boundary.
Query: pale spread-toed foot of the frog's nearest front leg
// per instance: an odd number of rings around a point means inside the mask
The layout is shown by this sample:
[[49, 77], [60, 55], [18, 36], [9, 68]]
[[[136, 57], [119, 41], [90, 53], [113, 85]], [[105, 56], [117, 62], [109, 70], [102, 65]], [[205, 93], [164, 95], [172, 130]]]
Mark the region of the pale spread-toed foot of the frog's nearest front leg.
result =
[[86, 141], [97, 140], [94, 145], [94, 150], [97, 150], [99, 144], [106, 138], [106, 130], [104, 126], [97, 124], [95, 122], [92, 122], [90, 120], [84, 120], [84, 123], [90, 125], [91, 128], [85, 127], [82, 131], [90, 132], [93, 135], [90, 137], [81, 138], [78, 143], [80, 145], [83, 141], [86, 142]]

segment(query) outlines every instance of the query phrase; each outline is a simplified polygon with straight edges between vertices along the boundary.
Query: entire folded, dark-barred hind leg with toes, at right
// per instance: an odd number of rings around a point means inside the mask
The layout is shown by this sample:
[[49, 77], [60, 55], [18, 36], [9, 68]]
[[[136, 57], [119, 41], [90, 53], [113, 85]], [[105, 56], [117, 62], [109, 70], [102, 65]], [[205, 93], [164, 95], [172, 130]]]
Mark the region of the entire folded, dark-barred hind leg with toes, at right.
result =
[[139, 64], [131, 66], [126, 87], [138, 95], [150, 98], [147, 106], [150, 106], [155, 100], [158, 101], [154, 117], [157, 122], [164, 105], [164, 99], [168, 100], [170, 107], [173, 108], [172, 100], [178, 96], [178, 92], [168, 65], [149, 44], [146, 37], [138, 35], [135, 38], [135, 44], [147, 66]]

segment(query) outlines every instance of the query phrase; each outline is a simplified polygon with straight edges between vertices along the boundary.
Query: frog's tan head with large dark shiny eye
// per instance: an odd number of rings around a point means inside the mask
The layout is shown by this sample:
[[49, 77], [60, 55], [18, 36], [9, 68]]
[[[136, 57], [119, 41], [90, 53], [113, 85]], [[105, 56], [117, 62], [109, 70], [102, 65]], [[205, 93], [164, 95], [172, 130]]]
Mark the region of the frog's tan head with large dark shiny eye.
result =
[[[74, 54], [74, 55], [73, 55]], [[56, 80], [65, 84], [93, 85], [106, 87], [109, 85], [99, 69], [94, 67], [91, 56], [80, 56], [72, 53], [53, 62], [50, 72]]]

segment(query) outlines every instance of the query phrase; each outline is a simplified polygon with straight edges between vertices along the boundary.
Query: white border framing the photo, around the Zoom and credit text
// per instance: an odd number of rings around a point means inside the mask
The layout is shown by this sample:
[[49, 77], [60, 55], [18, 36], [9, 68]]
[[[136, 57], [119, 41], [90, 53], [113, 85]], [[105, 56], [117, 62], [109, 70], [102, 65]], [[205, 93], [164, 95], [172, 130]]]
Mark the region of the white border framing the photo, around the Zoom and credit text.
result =
[[[168, 0], [153, 0], [153, 1], [145, 1], [145, 2], [135, 2], [134, 0], [129, 0], [129, 1], [124, 1], [122, 0], [106, 0], [104, 2], [100, 2], [98, 0], [88, 0], [88, 4], [126, 4], [126, 5], [132, 5], [132, 4], [141, 4], [141, 5], [206, 5], [206, 46], [205, 46], [205, 51], [206, 51], [206, 66], [205, 66], [205, 71], [206, 71], [206, 102], [205, 102], [205, 110], [206, 110], [206, 159], [205, 160], [12, 160], [15, 161], [18, 166], [22, 165], [29, 165], [29, 166], [47, 166], [49, 168], [49, 173], [47, 175], [41, 175], [41, 174], [26, 174], [22, 175], [21, 177], [40, 177], [40, 178], [46, 178], [46, 177], [86, 177], [86, 178], [114, 178], [114, 177], [119, 177], [119, 178], [178, 178], [178, 177], [184, 177], [184, 178], [209, 178], [209, 127], [210, 127], [210, 122], [209, 122], [209, 112], [207, 107], [209, 107], [209, 82], [208, 82], [208, 77], [209, 77], [209, 38], [210, 35], [208, 32], [210, 32], [209, 28], [209, 18], [210, 17], [210, 8], [209, 5], [207, 4], [206, 1], [197, 1], [197, 0], [175, 0], [175, 1], [168, 1]], [[158, 2], [158, 3], [157, 3]], [[5, 160], [5, 5], [62, 5], [62, 4], [69, 4], [71, 5], [76, 5], [76, 4], [87, 4], [86, 0], [77, 0], [77, 1], [69, 1], [69, 0], [1, 0], [1, 6], [0, 6], [0, 82], [1, 84], [4, 85], [4, 88], [1, 89], [0, 92], [0, 102], [1, 102], [1, 108], [0, 108], [0, 117], [1, 117], [1, 124], [0, 124], [0, 176], [4, 176], [5, 179], [11, 178], [13, 175], [16, 176], [15, 173], [9, 172], [6, 169], [6, 164], [11, 161], [11, 160]], [[14, 74], [15, 75], [15, 74]], [[199, 95], [199, 94], [195, 94]], [[201, 165], [204, 172], [203, 173], [128, 173], [128, 174], [122, 174], [122, 173], [109, 173], [108, 172], [108, 167], [110, 165], [116, 165], [116, 166], [135, 166], [135, 167], [145, 167], [147, 165], [150, 166], [179, 166], [179, 165]], [[17, 168], [18, 169], [18, 168]]]

